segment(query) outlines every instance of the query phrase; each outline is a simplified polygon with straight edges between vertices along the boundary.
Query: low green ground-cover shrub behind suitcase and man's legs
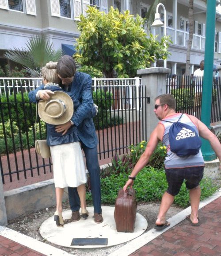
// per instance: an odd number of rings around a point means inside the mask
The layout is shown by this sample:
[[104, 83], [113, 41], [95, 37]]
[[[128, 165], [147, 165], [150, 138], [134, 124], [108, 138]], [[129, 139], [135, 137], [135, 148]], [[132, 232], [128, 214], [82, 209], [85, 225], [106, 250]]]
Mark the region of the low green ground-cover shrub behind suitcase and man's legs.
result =
[[[103, 204], [114, 204], [118, 195], [118, 190], [122, 188], [128, 180], [128, 173], [121, 171], [118, 175], [111, 174], [101, 178], [101, 194]], [[210, 178], [203, 178], [200, 182], [202, 194], [201, 200], [211, 196], [217, 186], [213, 185]], [[168, 184], [164, 170], [157, 170], [152, 167], [145, 167], [138, 173], [134, 181], [133, 188], [136, 191], [137, 202], [160, 201], [162, 195], [167, 190]], [[87, 200], [91, 202], [91, 193], [87, 192]], [[187, 207], [189, 203], [189, 190], [183, 183], [181, 190], [175, 196], [174, 204], [180, 207]]]

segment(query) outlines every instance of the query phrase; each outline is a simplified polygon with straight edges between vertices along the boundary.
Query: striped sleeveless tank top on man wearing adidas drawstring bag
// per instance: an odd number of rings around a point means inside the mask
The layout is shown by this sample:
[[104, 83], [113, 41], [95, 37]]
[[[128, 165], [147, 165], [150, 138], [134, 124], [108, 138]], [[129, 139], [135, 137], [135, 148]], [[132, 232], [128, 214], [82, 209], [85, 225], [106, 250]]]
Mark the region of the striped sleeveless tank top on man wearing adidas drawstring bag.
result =
[[[180, 116], [181, 116], [181, 113], [175, 113], [174, 115], [164, 118], [164, 120], [176, 122]], [[181, 123], [190, 125], [198, 133], [197, 127], [191, 121], [191, 119], [187, 116], [187, 114], [183, 114], [183, 116], [179, 121]], [[201, 149], [199, 150], [197, 155], [189, 155], [189, 156], [178, 156], [175, 153], [171, 152], [170, 144], [169, 144], [169, 129], [172, 123], [163, 122], [163, 120], [160, 120], [160, 124], [164, 126], [162, 143], [167, 147], [167, 156], [164, 161], [164, 166], [166, 169], [204, 166], [204, 159], [202, 157]]]

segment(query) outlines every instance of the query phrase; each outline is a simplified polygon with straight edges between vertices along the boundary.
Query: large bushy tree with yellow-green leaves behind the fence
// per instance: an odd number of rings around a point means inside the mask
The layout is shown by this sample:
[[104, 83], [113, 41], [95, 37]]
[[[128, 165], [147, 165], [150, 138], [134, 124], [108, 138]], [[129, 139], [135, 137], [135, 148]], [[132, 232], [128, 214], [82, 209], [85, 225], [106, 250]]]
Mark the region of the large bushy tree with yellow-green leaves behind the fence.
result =
[[[167, 58], [168, 38], [156, 41], [147, 38], [142, 27], [144, 20], [130, 15], [127, 10], [120, 13], [113, 7], [105, 14], [89, 7], [87, 16], [80, 15], [74, 58], [81, 65], [94, 66], [102, 70], [106, 78], [128, 78], [137, 74], [137, 69], [150, 66], [154, 58]], [[166, 43], [166, 47], [164, 47]]]

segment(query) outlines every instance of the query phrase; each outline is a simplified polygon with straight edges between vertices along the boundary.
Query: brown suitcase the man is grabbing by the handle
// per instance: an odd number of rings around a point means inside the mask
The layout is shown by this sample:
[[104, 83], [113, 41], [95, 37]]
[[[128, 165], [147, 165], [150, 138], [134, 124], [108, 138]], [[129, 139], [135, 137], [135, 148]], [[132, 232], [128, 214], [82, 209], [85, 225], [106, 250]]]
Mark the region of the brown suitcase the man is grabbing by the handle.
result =
[[114, 220], [118, 232], [133, 232], [137, 214], [137, 201], [135, 190], [123, 189], [118, 191], [118, 197], [115, 202]]

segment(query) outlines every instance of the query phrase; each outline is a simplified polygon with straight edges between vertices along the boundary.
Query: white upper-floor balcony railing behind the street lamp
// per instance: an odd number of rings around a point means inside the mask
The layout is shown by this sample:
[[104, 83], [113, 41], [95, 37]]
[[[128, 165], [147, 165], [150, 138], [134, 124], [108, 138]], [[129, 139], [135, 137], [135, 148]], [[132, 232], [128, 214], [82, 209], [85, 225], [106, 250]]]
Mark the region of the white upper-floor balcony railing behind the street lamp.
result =
[[[164, 27], [151, 27], [151, 33], [153, 35], [158, 35], [156, 40], [160, 41], [160, 39], [164, 36]], [[175, 31], [172, 27], [166, 28], [166, 35], [170, 35], [170, 39], [173, 42], [172, 44], [175, 44], [175, 34], [176, 44], [179, 46], [187, 47], [189, 32], [178, 29]], [[192, 48], [198, 50], [205, 50], [205, 40], [205, 36], [194, 34]]]

